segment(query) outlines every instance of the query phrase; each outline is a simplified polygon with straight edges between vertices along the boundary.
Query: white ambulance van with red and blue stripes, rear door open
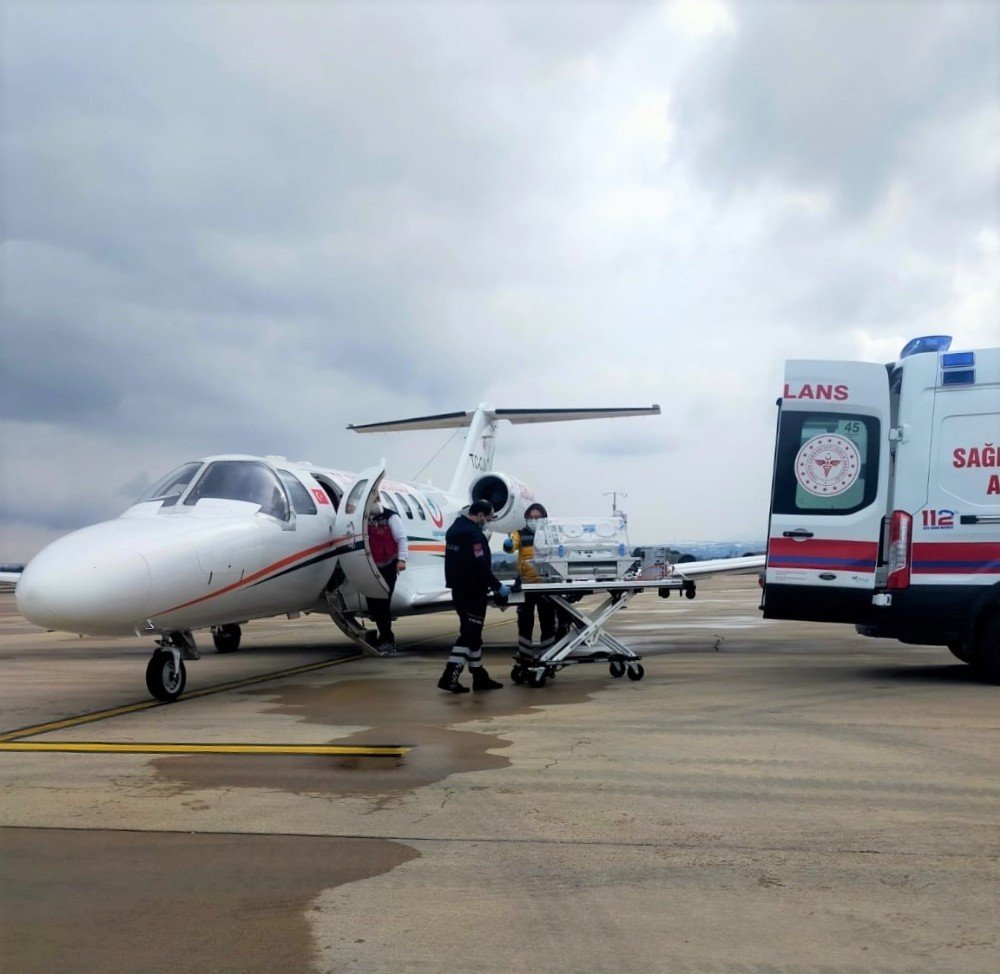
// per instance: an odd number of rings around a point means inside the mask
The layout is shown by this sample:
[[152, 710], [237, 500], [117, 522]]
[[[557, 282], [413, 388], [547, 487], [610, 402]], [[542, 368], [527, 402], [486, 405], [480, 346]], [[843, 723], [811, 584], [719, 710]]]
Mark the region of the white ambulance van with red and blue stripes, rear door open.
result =
[[1000, 348], [950, 346], [786, 363], [761, 608], [1000, 679]]

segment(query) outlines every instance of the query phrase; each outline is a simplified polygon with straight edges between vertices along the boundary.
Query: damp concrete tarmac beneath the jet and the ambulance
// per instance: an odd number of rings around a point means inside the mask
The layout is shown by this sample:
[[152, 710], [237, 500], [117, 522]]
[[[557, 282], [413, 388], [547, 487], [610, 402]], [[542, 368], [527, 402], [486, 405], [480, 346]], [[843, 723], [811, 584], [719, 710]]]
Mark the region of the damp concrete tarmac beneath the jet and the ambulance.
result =
[[[435, 681], [319, 617], [245, 627], [189, 690], [37, 741], [405, 745], [401, 757], [0, 752], [0, 969], [992, 972], [997, 695], [943, 649], [768, 623], [752, 577], [635, 599], [646, 678]], [[40, 632], [0, 595], [12, 730], [145, 701], [148, 648]]]

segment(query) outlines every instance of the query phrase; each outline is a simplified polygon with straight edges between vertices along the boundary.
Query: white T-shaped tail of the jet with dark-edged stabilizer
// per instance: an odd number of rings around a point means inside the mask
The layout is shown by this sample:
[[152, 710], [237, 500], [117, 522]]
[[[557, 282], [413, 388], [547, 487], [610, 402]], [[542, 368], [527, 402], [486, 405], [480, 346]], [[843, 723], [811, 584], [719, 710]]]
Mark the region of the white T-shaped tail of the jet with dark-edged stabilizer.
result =
[[509, 423], [562, 423], [575, 419], [616, 419], [625, 416], [659, 416], [658, 405], [617, 407], [612, 409], [496, 409], [480, 403], [475, 410], [462, 413], [437, 413], [433, 416], [415, 416], [411, 419], [394, 419], [386, 423], [349, 425], [355, 433], [390, 433], [403, 430], [462, 429], [469, 428], [462, 455], [455, 467], [449, 493], [461, 496], [468, 492], [472, 482], [493, 469], [493, 452], [496, 445], [496, 428], [500, 420]]

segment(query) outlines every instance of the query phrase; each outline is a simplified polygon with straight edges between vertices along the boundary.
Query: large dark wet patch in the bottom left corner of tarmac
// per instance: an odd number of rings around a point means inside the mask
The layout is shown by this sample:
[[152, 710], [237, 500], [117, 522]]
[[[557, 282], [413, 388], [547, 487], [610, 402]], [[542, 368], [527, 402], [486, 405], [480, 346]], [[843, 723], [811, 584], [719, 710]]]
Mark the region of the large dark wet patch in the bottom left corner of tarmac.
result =
[[319, 893], [418, 857], [384, 839], [0, 830], [0, 966], [310, 970]]

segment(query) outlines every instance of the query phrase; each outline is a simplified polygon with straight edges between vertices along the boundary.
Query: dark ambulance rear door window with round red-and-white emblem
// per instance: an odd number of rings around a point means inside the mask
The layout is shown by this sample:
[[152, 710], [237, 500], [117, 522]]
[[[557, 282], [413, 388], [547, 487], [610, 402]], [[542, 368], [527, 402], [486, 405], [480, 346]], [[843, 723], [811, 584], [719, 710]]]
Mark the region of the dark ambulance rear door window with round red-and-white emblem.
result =
[[878, 491], [879, 421], [844, 413], [785, 412], [775, 458], [775, 514], [843, 515]]

